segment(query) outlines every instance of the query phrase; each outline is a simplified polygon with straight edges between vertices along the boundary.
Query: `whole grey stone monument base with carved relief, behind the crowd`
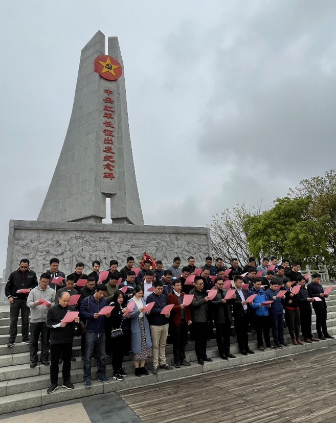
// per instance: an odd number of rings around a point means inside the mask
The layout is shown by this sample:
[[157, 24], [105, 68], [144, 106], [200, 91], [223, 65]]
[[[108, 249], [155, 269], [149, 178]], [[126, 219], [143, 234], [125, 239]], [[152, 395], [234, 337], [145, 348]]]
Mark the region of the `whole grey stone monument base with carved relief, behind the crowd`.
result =
[[[135, 267], [147, 252], [163, 262], [164, 269], [175, 256], [187, 264], [190, 255], [201, 265], [211, 255], [210, 230], [202, 227], [102, 224], [88, 222], [43, 222], [11, 220], [6, 262], [6, 277], [18, 268], [21, 259], [30, 260], [37, 273], [49, 269], [49, 260], [57, 257], [59, 270], [66, 275], [74, 272], [77, 262], [85, 264], [84, 273], [92, 272], [92, 262], [99, 260], [101, 269], [109, 269], [109, 261], [117, 260], [119, 269], [126, 257], [135, 258]], [[2, 287], [0, 299], [3, 301]]]

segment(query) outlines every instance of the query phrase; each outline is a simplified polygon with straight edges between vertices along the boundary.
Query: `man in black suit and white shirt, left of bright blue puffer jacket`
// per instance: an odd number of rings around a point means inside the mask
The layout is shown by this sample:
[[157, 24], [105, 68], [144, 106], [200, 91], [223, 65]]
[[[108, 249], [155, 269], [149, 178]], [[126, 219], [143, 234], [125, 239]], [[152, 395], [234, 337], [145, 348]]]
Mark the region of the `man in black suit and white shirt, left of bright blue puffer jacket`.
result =
[[247, 356], [247, 354], [254, 354], [254, 351], [249, 348], [249, 324], [251, 319], [250, 306], [246, 300], [248, 298], [248, 291], [241, 288], [243, 283], [241, 276], [234, 277], [234, 284], [236, 289], [236, 299], [233, 303], [233, 317], [235, 319], [235, 330], [237, 335], [238, 347], [240, 354]]

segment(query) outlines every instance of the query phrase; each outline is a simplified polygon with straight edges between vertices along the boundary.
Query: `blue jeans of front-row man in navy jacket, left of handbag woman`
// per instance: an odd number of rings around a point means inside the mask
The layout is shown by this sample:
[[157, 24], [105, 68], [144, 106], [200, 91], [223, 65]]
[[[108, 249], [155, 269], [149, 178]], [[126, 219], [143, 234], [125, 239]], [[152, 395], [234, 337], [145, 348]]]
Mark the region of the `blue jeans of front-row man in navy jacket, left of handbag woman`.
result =
[[98, 378], [105, 376], [105, 332], [95, 334], [87, 332], [85, 335], [84, 380], [91, 381], [91, 360], [97, 351]]

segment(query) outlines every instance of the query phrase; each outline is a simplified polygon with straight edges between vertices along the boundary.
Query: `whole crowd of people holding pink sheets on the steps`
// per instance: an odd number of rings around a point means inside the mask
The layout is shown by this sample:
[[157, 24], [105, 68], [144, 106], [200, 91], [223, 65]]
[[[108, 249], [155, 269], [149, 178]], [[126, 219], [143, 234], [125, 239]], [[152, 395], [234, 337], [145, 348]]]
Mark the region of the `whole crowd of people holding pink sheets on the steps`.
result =
[[[172, 344], [175, 368], [190, 366], [185, 348], [194, 342], [197, 362], [212, 361], [207, 342], [216, 339], [219, 357], [235, 358], [230, 353], [230, 336], [237, 337], [240, 354], [254, 354], [249, 334], [256, 333], [258, 348], [286, 348], [284, 326], [294, 345], [333, 338], [327, 331], [327, 293], [320, 284], [321, 275], [313, 273], [311, 282], [300, 273], [300, 263], [277, 257], [264, 257], [260, 266], [250, 257], [239, 267], [233, 258], [226, 267], [212, 257], [195, 267], [194, 257], [181, 267], [180, 257], [163, 269], [161, 261], [144, 260], [134, 268], [133, 257], [119, 271], [119, 263], [110, 261], [108, 271], [100, 262], [92, 263], [92, 272], [84, 273], [84, 264], [76, 264], [74, 273], [65, 276], [59, 260], [50, 260], [50, 269], [37, 280], [22, 259], [9, 276], [5, 295], [10, 303], [10, 332], [7, 346], [13, 347], [17, 321], [21, 314], [22, 342], [30, 346], [30, 367], [38, 362], [50, 366], [51, 386], [58, 389], [59, 363], [62, 387], [74, 389], [71, 362], [74, 336], [81, 337], [84, 385], [91, 387], [91, 365], [95, 358], [98, 380], [109, 383], [105, 357], [111, 357], [113, 379], [122, 381], [125, 356], [133, 355], [137, 377], [148, 375], [146, 360], [152, 357], [152, 372], [172, 370], [166, 360], [167, 342]], [[316, 314], [318, 337], [311, 331], [311, 306]], [[29, 323], [29, 315], [30, 323]], [[215, 331], [214, 331], [215, 328]], [[270, 329], [274, 345], [271, 343]], [[30, 335], [29, 335], [30, 331]], [[41, 352], [38, 358], [38, 341]], [[49, 351], [51, 361], [49, 362]]]

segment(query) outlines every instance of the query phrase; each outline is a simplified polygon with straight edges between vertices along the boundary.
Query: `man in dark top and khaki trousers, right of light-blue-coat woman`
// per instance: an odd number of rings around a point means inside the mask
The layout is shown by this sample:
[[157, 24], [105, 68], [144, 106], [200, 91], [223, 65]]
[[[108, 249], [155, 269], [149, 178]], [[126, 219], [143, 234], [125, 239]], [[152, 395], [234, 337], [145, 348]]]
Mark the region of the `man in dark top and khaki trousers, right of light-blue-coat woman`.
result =
[[146, 304], [154, 302], [147, 319], [150, 324], [153, 350], [153, 374], [158, 374], [159, 368], [162, 370], [172, 370], [166, 362], [166, 341], [168, 336], [169, 314], [161, 314], [167, 306], [167, 297], [163, 293], [163, 283], [161, 280], [155, 282], [154, 291], [148, 295]]

